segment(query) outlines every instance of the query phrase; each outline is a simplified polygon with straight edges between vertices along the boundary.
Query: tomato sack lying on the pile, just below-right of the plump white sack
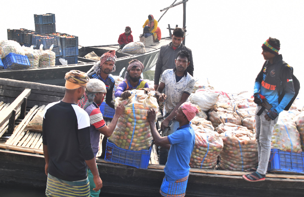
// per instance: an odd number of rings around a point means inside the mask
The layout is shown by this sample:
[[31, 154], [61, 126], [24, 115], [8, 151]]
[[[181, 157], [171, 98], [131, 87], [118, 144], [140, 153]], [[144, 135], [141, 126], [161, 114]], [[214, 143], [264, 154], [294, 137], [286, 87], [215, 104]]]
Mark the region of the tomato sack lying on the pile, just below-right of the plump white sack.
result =
[[242, 119], [236, 111], [233, 109], [228, 108], [216, 108], [212, 109], [208, 112], [208, 119], [211, 121], [213, 127], [219, 126], [221, 123], [233, 123], [236, 125], [242, 125]]

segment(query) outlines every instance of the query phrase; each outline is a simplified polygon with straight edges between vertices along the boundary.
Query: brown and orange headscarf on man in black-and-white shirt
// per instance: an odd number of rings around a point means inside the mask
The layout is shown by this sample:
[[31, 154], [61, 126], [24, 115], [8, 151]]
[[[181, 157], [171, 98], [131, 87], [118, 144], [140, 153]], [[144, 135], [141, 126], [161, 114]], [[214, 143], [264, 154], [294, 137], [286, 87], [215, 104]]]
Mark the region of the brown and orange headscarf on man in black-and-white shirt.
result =
[[81, 86], [86, 86], [89, 82], [89, 77], [86, 73], [79, 70], [71, 70], [65, 74], [65, 88], [76, 89]]

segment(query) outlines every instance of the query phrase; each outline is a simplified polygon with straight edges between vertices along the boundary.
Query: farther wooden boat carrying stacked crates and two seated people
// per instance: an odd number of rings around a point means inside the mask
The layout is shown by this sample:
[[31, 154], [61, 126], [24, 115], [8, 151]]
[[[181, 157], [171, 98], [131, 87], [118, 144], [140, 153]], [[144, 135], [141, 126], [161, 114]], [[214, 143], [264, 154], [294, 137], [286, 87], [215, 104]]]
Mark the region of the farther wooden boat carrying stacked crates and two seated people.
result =
[[[144, 72], [149, 71], [156, 64], [160, 47], [167, 45], [170, 42], [171, 39], [163, 38], [159, 42], [156, 42], [154, 45], [145, 47], [146, 53], [143, 54], [130, 55], [119, 51], [116, 52], [116, 71], [111, 74], [119, 75], [119, 72], [123, 69], [123, 67], [127, 67], [129, 65], [128, 62], [132, 59], [138, 59], [143, 63], [145, 66], [143, 70]], [[117, 50], [118, 48], [119, 45], [82, 47], [80, 48], [78, 64], [71, 64], [66, 66], [47, 66], [22, 70], [0, 70], [0, 78], [64, 86], [65, 73], [70, 70], [88, 72], [94, 63], [97, 62], [92, 59], [83, 58], [86, 54], [94, 51], [100, 57], [103, 53], [108, 52], [109, 50]]]

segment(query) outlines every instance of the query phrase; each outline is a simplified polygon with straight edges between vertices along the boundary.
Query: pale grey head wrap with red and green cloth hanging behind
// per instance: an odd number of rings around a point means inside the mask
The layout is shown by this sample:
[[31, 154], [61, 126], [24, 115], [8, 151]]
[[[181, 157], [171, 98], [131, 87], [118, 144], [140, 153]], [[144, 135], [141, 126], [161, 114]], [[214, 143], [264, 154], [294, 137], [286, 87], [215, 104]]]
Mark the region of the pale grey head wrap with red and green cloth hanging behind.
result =
[[87, 84], [84, 95], [78, 102], [78, 106], [82, 109], [87, 108], [94, 102], [94, 98], [97, 92], [107, 93], [105, 84], [99, 79], [90, 79]]

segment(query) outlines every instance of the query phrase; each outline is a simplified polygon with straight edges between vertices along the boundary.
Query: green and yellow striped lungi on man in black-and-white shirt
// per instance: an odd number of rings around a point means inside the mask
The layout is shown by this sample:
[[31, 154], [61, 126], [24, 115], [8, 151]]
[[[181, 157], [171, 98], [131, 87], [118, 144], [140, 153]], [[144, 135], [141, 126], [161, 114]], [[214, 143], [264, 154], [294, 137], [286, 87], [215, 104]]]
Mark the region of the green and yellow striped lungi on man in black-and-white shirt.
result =
[[48, 174], [46, 196], [64, 197], [64, 196], [90, 196], [89, 180], [86, 178], [81, 181], [64, 181]]

